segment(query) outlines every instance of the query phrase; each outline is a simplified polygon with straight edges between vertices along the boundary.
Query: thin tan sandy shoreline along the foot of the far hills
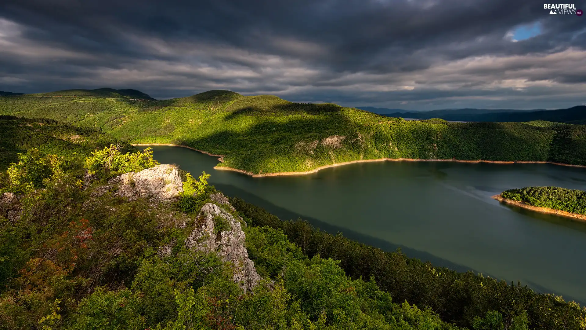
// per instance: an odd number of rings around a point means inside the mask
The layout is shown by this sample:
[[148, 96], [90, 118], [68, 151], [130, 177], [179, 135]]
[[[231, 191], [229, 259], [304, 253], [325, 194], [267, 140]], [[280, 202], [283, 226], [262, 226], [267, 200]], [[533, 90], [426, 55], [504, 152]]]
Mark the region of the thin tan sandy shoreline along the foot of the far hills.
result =
[[[192, 147], [183, 146], [182, 144], [166, 144], [166, 143], [138, 143], [132, 144], [132, 146], [173, 146], [173, 147], [183, 147], [195, 151], [199, 151], [200, 153], [207, 154], [213, 157], [220, 157], [218, 160], [220, 163], [224, 162], [224, 155], [221, 154], [212, 154], [207, 151], [197, 150]], [[369, 163], [370, 161], [455, 161], [456, 163], [494, 163], [494, 164], [554, 164], [554, 165], [561, 165], [561, 166], [571, 166], [571, 167], [586, 167], [584, 165], [571, 165], [571, 164], [563, 164], [563, 163], [554, 163], [553, 161], [527, 161], [527, 160], [516, 160], [516, 161], [503, 161], [503, 160], [459, 160], [459, 159], [411, 159], [411, 158], [381, 158], [381, 159], [362, 159], [362, 160], [352, 160], [352, 161], [344, 161], [343, 163], [335, 163], [324, 165], [320, 167], [316, 167], [313, 170], [309, 171], [302, 171], [302, 172], [278, 172], [278, 173], [264, 173], [264, 174], [254, 174], [252, 172], [248, 172], [245, 170], [234, 169], [233, 167], [226, 167], [226, 166], [215, 166], [215, 170], [225, 170], [225, 171], [235, 171], [243, 174], [247, 174], [251, 177], [272, 177], [272, 176], [302, 176], [305, 174], [316, 173], [319, 170], [328, 169], [328, 167], [335, 167], [335, 166], [342, 166], [347, 164], [354, 164], [354, 163]]]

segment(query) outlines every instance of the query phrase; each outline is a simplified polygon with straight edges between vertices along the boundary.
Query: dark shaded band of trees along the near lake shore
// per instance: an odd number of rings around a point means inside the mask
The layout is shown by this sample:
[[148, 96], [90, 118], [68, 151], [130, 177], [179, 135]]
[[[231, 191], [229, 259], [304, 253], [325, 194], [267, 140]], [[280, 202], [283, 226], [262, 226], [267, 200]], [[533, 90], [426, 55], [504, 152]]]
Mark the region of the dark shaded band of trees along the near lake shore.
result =
[[473, 328], [475, 315], [498, 311], [509, 324], [513, 315], [527, 311], [532, 329], [583, 329], [586, 308], [561, 297], [537, 294], [518, 284], [433, 267], [429, 262], [408, 258], [398, 252], [384, 252], [369, 245], [312, 228], [306, 221], [281, 221], [263, 208], [231, 198], [231, 204], [252, 225], [282, 230], [308, 257], [340, 260], [352, 278], [370, 278], [395, 301], [427, 306], [444, 321]]

